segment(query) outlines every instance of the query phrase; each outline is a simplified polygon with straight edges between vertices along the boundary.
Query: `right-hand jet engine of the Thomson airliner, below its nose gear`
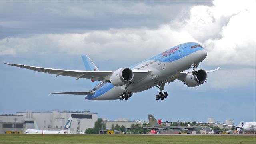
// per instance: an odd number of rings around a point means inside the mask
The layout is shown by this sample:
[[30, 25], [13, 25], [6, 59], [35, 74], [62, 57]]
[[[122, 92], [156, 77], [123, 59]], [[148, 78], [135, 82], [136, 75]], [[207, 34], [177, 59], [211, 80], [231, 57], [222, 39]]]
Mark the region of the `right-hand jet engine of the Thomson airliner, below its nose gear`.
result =
[[203, 84], [207, 80], [207, 73], [205, 70], [197, 70], [198, 74], [197, 75], [192, 75], [191, 72], [189, 72], [185, 79], [184, 82], [188, 87], [195, 87], [199, 86], [200, 84]]

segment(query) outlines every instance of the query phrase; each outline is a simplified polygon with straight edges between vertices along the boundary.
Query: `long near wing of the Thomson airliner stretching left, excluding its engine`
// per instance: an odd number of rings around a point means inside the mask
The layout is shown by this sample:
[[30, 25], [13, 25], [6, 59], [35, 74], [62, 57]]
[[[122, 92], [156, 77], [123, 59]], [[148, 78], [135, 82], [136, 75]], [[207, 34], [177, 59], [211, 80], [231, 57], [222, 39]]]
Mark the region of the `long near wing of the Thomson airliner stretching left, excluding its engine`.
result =
[[[55, 74], [57, 76], [71, 76], [76, 77], [76, 80], [79, 78], [88, 78], [91, 80], [99, 80], [99, 81], [108, 81], [110, 80], [110, 76], [112, 76], [114, 71], [82, 71], [82, 70], [62, 70], [62, 69], [52, 69], [52, 68], [41, 68], [35, 66], [26, 66], [22, 64], [8, 64], [10, 66], [17, 66], [20, 68], [26, 68], [29, 70], [34, 70], [37, 72], [44, 72], [48, 74]], [[148, 70], [136, 70], [133, 71], [134, 78], [132, 81], [136, 82], [142, 78], [144, 78], [150, 71]]]

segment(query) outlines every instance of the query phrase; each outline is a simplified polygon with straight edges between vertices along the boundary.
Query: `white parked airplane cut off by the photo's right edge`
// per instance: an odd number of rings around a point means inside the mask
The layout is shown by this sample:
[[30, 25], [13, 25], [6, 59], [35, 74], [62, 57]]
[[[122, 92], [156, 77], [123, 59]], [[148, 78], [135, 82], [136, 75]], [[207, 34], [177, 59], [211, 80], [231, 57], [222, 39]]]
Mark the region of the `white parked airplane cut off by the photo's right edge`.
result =
[[[211, 124], [218, 124], [218, 123], [214, 123], [214, 122], [209, 122]], [[232, 126], [232, 125], [228, 125], [228, 124], [221, 124], [221, 125], [224, 125], [224, 126]], [[240, 133], [242, 133], [242, 130], [244, 131], [254, 131], [256, 132], [256, 122], [244, 122], [244, 121], [241, 121], [238, 126], [232, 126], [232, 127], [235, 127], [237, 129], [237, 131]]]

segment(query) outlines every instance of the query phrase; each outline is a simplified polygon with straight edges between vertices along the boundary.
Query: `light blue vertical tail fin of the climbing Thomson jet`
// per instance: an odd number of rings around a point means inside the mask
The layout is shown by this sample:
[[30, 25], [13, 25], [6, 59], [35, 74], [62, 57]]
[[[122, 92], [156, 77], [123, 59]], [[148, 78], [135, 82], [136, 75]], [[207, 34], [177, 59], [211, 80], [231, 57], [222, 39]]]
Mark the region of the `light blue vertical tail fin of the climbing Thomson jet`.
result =
[[[95, 64], [92, 62], [92, 60], [89, 58], [89, 56], [82, 55], [82, 59], [83, 59], [83, 62], [84, 62], [85, 70], [87, 70], [87, 71], [99, 71], [99, 69], [97, 68], [97, 66], [95, 66]], [[94, 88], [98, 83], [99, 82], [94, 82], [93, 80], [91, 80], [91, 82], [90, 82], [92, 88]]]

